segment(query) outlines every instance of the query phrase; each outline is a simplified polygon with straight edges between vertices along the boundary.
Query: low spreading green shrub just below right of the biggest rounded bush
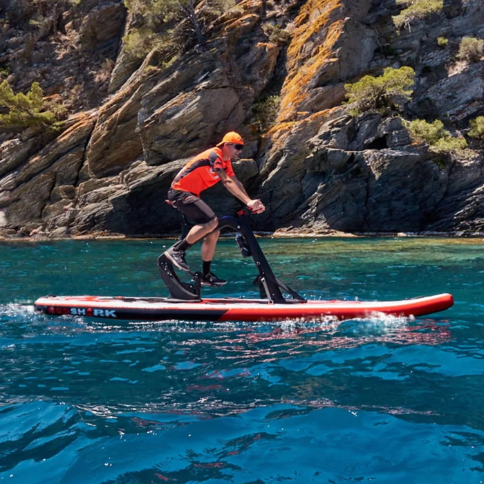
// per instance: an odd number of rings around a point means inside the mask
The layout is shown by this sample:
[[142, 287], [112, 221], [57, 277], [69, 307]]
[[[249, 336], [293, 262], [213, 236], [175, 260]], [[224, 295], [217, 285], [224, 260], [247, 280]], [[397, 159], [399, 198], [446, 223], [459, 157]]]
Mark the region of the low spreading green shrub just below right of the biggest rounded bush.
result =
[[462, 153], [467, 148], [467, 141], [452, 136], [444, 129], [444, 124], [440, 120], [415, 120], [406, 122], [405, 125], [413, 141], [429, 145], [430, 151], [434, 153]]

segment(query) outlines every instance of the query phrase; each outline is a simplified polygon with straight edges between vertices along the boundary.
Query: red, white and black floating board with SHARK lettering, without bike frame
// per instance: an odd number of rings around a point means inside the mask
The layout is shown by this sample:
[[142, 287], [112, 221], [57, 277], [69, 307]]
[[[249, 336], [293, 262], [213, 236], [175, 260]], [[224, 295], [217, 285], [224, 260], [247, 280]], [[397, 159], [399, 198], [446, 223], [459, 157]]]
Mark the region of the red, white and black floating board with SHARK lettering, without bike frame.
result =
[[366, 318], [374, 315], [423, 316], [450, 308], [450, 294], [417, 297], [402, 301], [294, 301], [270, 304], [267, 299], [202, 299], [174, 302], [162, 297], [41, 297], [35, 309], [47, 315], [73, 315], [131, 321], [318, 321]]

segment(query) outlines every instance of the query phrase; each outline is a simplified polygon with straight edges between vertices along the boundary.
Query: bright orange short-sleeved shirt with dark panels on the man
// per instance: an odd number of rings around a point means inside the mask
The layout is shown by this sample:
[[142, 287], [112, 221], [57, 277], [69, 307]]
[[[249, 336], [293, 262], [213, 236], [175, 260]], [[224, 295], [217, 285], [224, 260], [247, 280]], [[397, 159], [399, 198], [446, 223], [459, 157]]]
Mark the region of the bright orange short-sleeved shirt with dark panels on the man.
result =
[[191, 192], [196, 196], [220, 181], [216, 170], [223, 169], [228, 176], [234, 176], [232, 162], [223, 159], [220, 148], [210, 148], [195, 156], [178, 172], [171, 188]]

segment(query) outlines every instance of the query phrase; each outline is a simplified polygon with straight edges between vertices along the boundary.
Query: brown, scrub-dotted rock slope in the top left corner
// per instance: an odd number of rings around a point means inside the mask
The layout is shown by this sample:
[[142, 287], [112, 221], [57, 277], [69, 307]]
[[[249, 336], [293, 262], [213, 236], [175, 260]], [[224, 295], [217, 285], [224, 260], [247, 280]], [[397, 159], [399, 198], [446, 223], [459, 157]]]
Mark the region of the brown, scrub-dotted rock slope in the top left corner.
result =
[[[12, 89], [39, 82], [71, 112], [100, 106], [118, 55], [126, 8], [120, 0], [0, 1], [0, 67]], [[2, 79], [3, 80], [3, 79]]]

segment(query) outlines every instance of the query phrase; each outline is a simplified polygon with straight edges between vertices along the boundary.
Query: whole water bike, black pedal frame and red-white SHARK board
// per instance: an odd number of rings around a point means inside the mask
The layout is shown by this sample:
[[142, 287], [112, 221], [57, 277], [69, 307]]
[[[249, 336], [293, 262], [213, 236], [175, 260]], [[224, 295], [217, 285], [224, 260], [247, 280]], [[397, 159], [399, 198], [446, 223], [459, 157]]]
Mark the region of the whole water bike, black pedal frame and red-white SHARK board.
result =
[[274, 275], [249, 224], [247, 210], [236, 217], [219, 218], [216, 230], [236, 232], [243, 257], [252, 257], [258, 270], [254, 283], [260, 299], [210, 298], [201, 295], [201, 272], [189, 272], [191, 282], [180, 281], [172, 263], [158, 257], [160, 276], [169, 297], [47, 296], [35, 301], [37, 311], [47, 315], [73, 315], [130, 321], [201, 320], [271, 322], [286, 319], [318, 322], [326, 318], [353, 319], [375, 315], [418, 317], [450, 308], [450, 294], [416, 297], [402, 301], [314, 301], [299, 295]]

